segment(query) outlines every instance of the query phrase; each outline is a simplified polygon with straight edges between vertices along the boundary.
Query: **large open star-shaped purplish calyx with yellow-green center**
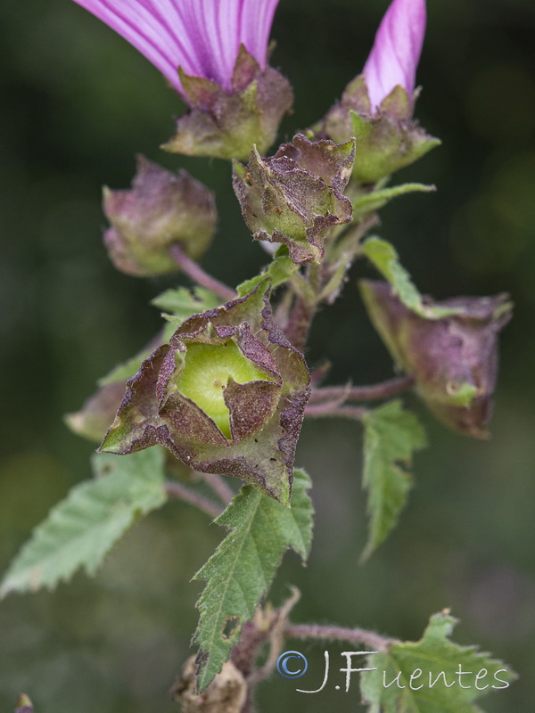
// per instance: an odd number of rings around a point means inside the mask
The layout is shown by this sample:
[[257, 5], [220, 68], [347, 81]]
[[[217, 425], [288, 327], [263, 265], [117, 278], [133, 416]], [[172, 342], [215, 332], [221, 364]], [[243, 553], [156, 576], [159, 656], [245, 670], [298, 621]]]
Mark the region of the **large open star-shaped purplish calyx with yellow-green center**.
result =
[[309, 372], [271, 317], [267, 285], [193, 315], [145, 359], [101, 450], [160, 443], [196, 471], [248, 480], [288, 504]]

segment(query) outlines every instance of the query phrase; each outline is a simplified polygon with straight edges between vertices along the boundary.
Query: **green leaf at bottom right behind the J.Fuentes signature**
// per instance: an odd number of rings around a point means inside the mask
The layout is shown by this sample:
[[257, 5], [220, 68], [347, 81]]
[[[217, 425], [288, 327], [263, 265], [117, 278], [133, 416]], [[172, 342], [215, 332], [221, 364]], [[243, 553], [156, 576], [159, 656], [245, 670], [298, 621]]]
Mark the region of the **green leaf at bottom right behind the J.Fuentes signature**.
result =
[[514, 681], [502, 661], [451, 642], [456, 624], [448, 613], [434, 614], [419, 642], [391, 643], [367, 658], [376, 669], [360, 677], [369, 713], [481, 713], [473, 701]]

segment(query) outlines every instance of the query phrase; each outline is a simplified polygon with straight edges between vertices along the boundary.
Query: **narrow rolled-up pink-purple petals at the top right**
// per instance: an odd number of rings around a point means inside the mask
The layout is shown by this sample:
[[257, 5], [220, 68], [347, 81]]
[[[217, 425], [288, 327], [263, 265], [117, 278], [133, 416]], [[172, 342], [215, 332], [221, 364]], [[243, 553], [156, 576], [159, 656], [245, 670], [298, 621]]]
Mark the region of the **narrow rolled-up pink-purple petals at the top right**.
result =
[[372, 111], [377, 111], [395, 86], [405, 89], [412, 99], [424, 34], [425, 0], [393, 0], [363, 70]]

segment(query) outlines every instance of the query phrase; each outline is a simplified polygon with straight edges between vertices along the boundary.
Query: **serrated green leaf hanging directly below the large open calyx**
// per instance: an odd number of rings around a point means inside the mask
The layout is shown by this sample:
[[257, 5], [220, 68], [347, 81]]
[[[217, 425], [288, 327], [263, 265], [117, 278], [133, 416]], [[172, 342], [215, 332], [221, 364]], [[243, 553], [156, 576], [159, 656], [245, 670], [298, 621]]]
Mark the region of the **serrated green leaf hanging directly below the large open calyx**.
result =
[[292, 508], [286, 508], [259, 490], [243, 486], [216, 520], [229, 532], [194, 577], [207, 582], [197, 603], [201, 617], [194, 637], [199, 644], [200, 692], [221, 670], [243, 624], [268, 591], [286, 549], [292, 547], [303, 559], [307, 557], [313, 514], [309, 487], [309, 476], [294, 471]]

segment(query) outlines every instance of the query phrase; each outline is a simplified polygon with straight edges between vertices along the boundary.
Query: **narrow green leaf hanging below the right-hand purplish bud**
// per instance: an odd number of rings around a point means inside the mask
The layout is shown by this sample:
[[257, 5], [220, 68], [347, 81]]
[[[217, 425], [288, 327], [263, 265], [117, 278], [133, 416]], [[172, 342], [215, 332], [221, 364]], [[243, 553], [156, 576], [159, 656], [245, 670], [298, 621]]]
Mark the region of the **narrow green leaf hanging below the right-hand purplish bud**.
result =
[[407, 469], [414, 451], [425, 447], [424, 428], [399, 400], [390, 401], [363, 417], [364, 475], [368, 491], [369, 535], [362, 559], [381, 545], [407, 502], [412, 478]]

